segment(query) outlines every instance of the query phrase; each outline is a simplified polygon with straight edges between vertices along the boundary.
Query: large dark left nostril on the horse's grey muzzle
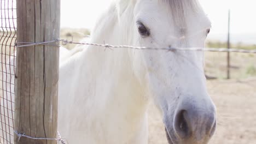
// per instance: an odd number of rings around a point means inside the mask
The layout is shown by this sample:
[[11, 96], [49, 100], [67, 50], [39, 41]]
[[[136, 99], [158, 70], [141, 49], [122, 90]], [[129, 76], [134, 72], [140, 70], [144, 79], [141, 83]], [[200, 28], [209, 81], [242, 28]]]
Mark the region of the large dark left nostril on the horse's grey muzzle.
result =
[[188, 113], [185, 110], [177, 113], [176, 118], [174, 120], [174, 129], [176, 134], [184, 139], [190, 135], [189, 124], [188, 124]]

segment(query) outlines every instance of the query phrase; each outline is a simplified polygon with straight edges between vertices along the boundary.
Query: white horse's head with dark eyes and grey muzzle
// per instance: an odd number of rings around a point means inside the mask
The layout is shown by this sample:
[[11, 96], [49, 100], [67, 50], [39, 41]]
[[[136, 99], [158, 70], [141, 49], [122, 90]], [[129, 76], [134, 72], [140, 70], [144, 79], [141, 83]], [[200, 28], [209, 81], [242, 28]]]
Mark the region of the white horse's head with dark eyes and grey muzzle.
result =
[[137, 79], [162, 113], [168, 142], [207, 143], [216, 128], [216, 107], [207, 93], [203, 52], [182, 50], [204, 47], [210, 32], [199, 2], [119, 1], [118, 14], [126, 44], [170, 48], [132, 54]]

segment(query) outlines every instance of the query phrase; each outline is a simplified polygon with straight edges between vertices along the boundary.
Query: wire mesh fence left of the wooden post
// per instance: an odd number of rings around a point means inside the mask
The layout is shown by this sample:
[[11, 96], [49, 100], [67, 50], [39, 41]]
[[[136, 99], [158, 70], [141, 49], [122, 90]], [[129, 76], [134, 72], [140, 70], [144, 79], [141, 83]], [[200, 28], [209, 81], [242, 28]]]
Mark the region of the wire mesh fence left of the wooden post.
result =
[[0, 143], [14, 143], [16, 4], [0, 1]]

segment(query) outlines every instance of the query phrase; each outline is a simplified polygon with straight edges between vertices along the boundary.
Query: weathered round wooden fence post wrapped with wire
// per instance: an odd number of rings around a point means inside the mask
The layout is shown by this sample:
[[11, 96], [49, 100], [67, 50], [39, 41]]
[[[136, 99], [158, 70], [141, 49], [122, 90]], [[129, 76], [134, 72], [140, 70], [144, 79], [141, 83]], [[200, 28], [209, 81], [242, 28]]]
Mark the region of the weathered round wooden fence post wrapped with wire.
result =
[[[18, 0], [17, 43], [60, 37], [60, 0]], [[14, 130], [32, 137], [57, 138], [59, 42], [17, 48]], [[15, 135], [19, 144], [53, 144]]]

